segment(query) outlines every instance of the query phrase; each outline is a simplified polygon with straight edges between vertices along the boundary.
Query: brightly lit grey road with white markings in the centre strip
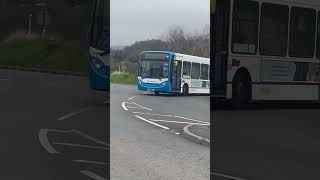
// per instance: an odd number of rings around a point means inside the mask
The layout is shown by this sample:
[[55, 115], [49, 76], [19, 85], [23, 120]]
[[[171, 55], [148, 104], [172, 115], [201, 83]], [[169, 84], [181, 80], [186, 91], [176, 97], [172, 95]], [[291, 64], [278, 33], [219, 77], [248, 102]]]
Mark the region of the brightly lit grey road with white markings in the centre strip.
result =
[[111, 178], [209, 179], [210, 148], [181, 136], [210, 120], [206, 96], [173, 96], [111, 86]]

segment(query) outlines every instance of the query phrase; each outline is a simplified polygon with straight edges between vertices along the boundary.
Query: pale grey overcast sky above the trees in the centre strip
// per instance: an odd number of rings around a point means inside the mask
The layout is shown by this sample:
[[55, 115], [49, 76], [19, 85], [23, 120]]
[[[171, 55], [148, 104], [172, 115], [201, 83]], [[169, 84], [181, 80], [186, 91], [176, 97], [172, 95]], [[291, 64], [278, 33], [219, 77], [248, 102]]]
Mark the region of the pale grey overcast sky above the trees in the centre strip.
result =
[[111, 0], [111, 46], [158, 38], [170, 27], [187, 32], [210, 24], [210, 0]]

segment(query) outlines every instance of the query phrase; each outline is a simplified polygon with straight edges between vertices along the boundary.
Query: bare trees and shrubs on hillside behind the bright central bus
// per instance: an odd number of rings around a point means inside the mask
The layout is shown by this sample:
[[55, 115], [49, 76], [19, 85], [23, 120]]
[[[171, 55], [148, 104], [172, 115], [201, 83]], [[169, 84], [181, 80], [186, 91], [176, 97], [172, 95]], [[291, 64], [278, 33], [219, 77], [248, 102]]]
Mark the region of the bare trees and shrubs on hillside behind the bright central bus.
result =
[[175, 26], [161, 38], [138, 41], [122, 50], [111, 50], [112, 71], [135, 74], [142, 51], [172, 51], [201, 57], [210, 57], [210, 31], [205, 26], [201, 32], [185, 33], [182, 27]]

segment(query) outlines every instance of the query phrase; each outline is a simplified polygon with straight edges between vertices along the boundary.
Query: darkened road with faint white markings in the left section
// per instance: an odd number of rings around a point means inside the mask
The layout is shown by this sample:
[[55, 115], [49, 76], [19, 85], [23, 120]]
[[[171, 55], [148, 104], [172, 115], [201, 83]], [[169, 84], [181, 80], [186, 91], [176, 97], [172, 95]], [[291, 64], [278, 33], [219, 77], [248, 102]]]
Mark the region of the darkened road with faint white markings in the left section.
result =
[[107, 179], [109, 105], [84, 77], [0, 70], [0, 179]]

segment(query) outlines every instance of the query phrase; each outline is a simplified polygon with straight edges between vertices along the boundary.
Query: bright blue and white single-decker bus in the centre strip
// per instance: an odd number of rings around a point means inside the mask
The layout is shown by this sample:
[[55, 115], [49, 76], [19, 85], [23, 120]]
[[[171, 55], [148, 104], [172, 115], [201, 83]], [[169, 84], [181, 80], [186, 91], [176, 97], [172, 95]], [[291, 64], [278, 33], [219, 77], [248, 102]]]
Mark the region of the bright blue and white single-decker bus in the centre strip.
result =
[[166, 51], [140, 55], [138, 89], [160, 93], [209, 94], [210, 59]]

